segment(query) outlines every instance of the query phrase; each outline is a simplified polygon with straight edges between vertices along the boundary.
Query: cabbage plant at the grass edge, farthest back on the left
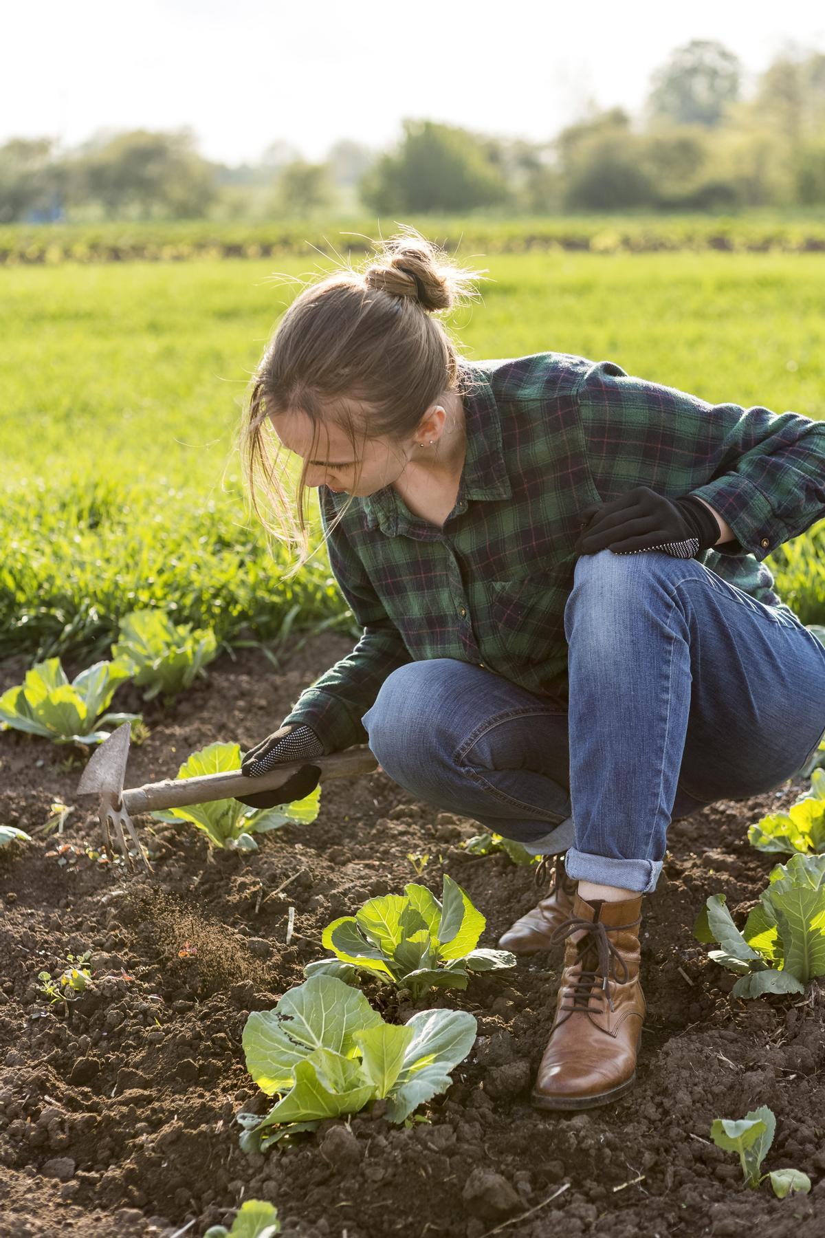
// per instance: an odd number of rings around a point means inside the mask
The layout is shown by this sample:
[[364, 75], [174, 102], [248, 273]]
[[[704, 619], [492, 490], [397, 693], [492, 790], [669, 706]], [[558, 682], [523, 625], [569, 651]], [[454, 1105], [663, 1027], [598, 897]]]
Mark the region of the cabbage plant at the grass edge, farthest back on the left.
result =
[[176, 626], [162, 610], [132, 610], [120, 620], [120, 635], [111, 646], [129, 667], [135, 683], [145, 687], [143, 699], [160, 692], [174, 696], [190, 687], [195, 675], [216, 655], [214, 631]]

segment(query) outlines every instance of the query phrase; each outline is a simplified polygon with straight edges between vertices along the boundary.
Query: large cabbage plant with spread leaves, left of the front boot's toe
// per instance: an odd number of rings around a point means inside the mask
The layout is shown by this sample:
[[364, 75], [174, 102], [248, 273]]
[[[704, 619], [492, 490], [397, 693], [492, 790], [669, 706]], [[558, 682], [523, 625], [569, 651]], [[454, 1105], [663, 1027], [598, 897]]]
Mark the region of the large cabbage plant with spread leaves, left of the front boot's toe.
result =
[[246, 1070], [267, 1096], [261, 1118], [237, 1114], [241, 1148], [266, 1151], [284, 1134], [314, 1130], [324, 1118], [387, 1102], [401, 1123], [423, 1101], [445, 1092], [449, 1071], [470, 1052], [475, 1016], [421, 1010], [403, 1025], [385, 1023], [359, 989], [313, 976], [288, 989], [275, 1009], [254, 1011], [242, 1035]]

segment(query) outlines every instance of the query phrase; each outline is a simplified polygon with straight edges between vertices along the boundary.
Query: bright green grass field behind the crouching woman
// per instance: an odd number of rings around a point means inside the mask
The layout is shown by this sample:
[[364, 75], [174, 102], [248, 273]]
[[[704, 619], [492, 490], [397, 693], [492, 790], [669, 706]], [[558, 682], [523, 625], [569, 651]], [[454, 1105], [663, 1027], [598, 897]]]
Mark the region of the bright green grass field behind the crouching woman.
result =
[[[470, 358], [576, 353], [712, 402], [824, 413], [825, 254], [472, 245], [456, 260], [490, 276], [451, 318]], [[249, 376], [299, 291], [283, 276], [329, 269], [310, 251], [4, 271], [0, 656], [108, 656], [119, 617], [150, 603], [228, 643], [348, 629], [323, 552], [280, 582], [231, 449]], [[819, 526], [769, 560], [805, 623], [825, 623], [818, 545]]]

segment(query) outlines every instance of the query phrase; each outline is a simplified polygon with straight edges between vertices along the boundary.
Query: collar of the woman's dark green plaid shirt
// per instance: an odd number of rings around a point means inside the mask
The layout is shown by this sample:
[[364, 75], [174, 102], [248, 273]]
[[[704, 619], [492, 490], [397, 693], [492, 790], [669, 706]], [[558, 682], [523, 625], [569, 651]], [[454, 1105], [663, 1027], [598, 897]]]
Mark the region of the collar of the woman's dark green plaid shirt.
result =
[[[470, 383], [470, 390], [463, 396], [466, 456], [456, 499], [460, 514], [466, 510], [468, 499], [508, 499], [512, 489], [502, 451], [498, 406], [484, 363], [459, 359], [459, 370], [461, 378]], [[385, 485], [375, 494], [356, 499], [362, 506], [367, 529], [380, 525], [387, 536], [395, 537], [404, 519], [398, 498], [392, 485]]]

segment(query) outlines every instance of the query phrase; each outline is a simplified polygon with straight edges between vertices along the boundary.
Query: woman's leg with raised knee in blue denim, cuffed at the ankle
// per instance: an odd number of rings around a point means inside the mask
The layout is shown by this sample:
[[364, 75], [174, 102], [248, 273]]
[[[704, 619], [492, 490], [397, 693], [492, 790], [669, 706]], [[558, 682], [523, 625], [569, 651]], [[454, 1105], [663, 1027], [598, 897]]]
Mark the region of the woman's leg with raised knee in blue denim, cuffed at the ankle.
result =
[[[779, 786], [825, 728], [825, 647], [696, 560], [602, 550], [575, 566], [570, 877], [656, 889], [677, 782], [699, 801]], [[581, 889], [581, 886], [580, 886]]]

